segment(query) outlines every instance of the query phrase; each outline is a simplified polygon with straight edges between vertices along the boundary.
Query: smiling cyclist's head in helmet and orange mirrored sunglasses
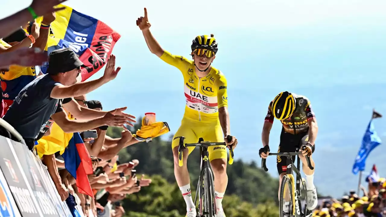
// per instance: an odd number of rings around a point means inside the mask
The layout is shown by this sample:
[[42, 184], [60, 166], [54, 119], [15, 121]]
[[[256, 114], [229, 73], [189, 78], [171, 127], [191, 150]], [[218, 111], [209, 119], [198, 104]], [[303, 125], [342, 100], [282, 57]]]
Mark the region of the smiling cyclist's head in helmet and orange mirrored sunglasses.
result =
[[214, 35], [197, 36], [191, 45], [194, 64], [200, 71], [207, 71], [215, 59], [217, 53], [217, 42]]

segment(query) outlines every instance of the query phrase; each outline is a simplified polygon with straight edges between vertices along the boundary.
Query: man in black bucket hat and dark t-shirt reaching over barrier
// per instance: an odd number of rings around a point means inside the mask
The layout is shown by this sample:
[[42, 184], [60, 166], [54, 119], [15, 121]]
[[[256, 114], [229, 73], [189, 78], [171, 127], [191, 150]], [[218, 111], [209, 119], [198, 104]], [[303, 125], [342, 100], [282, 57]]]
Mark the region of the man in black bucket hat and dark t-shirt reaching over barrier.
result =
[[[47, 128], [46, 124], [51, 115], [52, 120], [64, 132], [82, 132], [103, 125], [132, 125], [127, 121], [135, 122], [131, 119], [134, 116], [122, 112], [126, 108], [119, 108], [110, 112], [94, 110], [91, 111], [91, 115], [88, 115], [88, 120], [69, 120], [66, 118], [67, 114], [62, 108], [63, 102], [74, 101], [71, 99], [72, 97], [84, 95], [97, 89], [113, 80], [120, 70], [120, 67], [115, 70], [115, 56], [111, 55], [101, 78], [76, 83], [77, 77], [80, 78], [82, 65], [83, 63], [70, 48], [52, 51], [49, 56], [47, 75], [39, 76], [25, 86], [3, 117], [22, 135], [31, 150], [41, 130]], [[80, 109], [71, 106], [69, 108], [69, 112], [75, 114], [77, 112], [71, 110]]]

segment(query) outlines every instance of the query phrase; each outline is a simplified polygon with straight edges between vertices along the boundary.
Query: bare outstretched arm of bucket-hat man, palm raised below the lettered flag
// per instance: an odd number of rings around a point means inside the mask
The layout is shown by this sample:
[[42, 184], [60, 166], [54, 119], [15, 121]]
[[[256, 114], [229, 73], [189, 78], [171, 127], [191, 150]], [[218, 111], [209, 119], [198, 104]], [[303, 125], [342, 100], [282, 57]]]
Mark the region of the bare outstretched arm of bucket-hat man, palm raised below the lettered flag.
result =
[[97, 89], [108, 81], [117, 77], [120, 67], [115, 70], [115, 56], [111, 55], [107, 61], [105, 74], [97, 80], [76, 83], [71, 86], [57, 85], [51, 91], [51, 98], [64, 99], [85, 95]]

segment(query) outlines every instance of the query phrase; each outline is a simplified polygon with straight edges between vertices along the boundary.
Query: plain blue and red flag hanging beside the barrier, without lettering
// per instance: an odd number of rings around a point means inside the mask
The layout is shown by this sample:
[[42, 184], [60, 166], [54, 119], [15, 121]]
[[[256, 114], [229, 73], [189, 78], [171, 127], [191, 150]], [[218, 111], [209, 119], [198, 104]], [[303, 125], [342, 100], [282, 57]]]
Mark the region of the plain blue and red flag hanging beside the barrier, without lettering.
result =
[[76, 179], [76, 186], [80, 193], [87, 194], [94, 198], [87, 175], [93, 174], [90, 154], [78, 132], [68, 143], [62, 154], [64, 167]]

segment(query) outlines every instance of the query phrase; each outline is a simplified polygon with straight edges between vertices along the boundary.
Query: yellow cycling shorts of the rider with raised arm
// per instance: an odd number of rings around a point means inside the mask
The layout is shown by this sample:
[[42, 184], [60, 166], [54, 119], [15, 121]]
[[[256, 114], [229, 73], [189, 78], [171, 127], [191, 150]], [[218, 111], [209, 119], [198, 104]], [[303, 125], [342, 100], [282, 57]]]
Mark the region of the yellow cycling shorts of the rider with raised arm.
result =
[[[174, 138], [185, 137], [184, 143], [196, 143], [199, 138], [210, 142], [224, 142], [224, 136], [221, 129], [220, 121], [213, 123], [196, 122], [187, 118], [183, 118], [181, 126], [174, 135]], [[172, 149], [178, 146], [179, 138], [174, 139], [171, 144]], [[188, 147], [189, 154], [195, 147]], [[227, 147], [225, 146], [210, 146], [208, 147], [209, 161], [214, 159], [228, 159]]]

